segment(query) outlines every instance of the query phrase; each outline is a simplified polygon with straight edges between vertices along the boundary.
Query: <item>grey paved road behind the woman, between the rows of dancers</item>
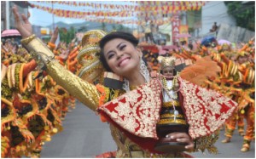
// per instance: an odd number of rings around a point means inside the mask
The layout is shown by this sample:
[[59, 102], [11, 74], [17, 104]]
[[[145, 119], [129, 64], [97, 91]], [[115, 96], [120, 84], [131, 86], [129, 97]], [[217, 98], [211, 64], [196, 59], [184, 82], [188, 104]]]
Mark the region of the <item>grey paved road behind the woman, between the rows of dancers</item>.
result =
[[[99, 116], [87, 107], [77, 103], [76, 109], [67, 113], [63, 121], [64, 130], [55, 134], [50, 142], [45, 142], [42, 158], [91, 158], [106, 151], [115, 150], [108, 123], [102, 123]], [[224, 131], [215, 144], [218, 155], [192, 153], [196, 158], [255, 158], [255, 142], [251, 150], [241, 152], [242, 137], [235, 132], [232, 142], [222, 144]]]

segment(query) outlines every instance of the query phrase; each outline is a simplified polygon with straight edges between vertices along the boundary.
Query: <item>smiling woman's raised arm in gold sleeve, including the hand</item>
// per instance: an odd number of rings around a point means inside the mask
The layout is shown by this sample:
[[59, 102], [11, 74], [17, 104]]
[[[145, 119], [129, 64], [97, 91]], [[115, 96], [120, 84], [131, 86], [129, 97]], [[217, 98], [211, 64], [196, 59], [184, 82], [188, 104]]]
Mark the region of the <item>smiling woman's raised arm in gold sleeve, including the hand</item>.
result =
[[23, 37], [21, 43], [30, 53], [35, 55], [38, 65], [44, 65], [43, 68], [55, 82], [91, 110], [96, 111], [99, 102], [99, 94], [96, 87], [89, 82], [84, 82], [81, 78], [73, 75], [72, 72], [67, 71], [67, 69], [59, 64], [55, 60], [55, 54], [49, 50], [45, 43], [32, 34], [32, 25], [26, 16], [22, 14], [22, 20], [20, 20], [16, 7], [13, 8], [13, 12], [15, 14], [15, 26]]

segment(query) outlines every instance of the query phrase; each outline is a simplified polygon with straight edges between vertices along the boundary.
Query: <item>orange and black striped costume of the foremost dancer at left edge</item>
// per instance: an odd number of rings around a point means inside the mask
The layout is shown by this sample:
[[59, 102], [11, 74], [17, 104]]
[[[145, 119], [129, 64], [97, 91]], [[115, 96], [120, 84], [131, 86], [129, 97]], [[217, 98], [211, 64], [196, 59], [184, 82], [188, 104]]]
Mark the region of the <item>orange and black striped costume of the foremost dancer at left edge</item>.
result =
[[[15, 63], [9, 65], [9, 67], [5, 67], [2, 64], [1, 110], [4, 114], [1, 117], [1, 138], [5, 142], [5, 145], [3, 145], [4, 149], [1, 150], [3, 157], [21, 156], [25, 153], [24, 150], [26, 150], [29, 142], [35, 140], [32, 133], [26, 128], [26, 119], [23, 120], [21, 117], [25, 112], [31, 110], [23, 109], [20, 105], [15, 105], [15, 100], [13, 99], [20, 88], [24, 90], [23, 77], [26, 77], [26, 73], [32, 71], [35, 66], [36, 63], [34, 60], [28, 64]], [[20, 68], [26, 69], [26, 71], [19, 71]], [[24, 83], [27, 83], [27, 81]], [[31, 104], [31, 102], [26, 99], [21, 100], [20, 103], [22, 103], [22, 105]]]

